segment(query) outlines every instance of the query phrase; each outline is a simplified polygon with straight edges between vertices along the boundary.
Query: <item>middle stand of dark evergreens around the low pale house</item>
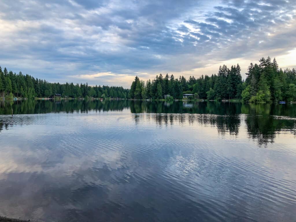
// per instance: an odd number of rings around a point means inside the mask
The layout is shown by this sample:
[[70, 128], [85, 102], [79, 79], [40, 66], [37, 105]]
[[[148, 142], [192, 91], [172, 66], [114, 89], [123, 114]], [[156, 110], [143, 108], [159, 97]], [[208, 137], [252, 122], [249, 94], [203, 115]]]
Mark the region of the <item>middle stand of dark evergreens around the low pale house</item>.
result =
[[173, 75], [157, 75], [154, 80], [146, 83], [137, 76], [131, 85], [132, 99], [182, 99], [183, 94], [194, 94], [200, 99], [240, 98], [243, 91], [243, 81], [240, 67], [232, 66], [229, 70], [226, 65], [220, 66], [218, 75], [200, 78], [184, 76], [176, 78]]

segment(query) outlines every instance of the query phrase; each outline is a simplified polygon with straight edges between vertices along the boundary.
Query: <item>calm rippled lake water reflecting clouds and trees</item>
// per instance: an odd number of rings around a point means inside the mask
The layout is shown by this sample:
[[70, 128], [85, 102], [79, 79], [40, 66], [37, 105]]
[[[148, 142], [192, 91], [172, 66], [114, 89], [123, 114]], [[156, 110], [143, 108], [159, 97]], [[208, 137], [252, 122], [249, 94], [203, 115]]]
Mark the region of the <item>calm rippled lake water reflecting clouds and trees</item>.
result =
[[296, 221], [296, 104], [12, 103], [0, 104], [0, 215]]

